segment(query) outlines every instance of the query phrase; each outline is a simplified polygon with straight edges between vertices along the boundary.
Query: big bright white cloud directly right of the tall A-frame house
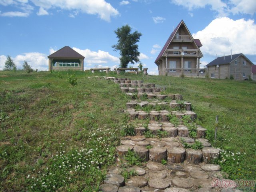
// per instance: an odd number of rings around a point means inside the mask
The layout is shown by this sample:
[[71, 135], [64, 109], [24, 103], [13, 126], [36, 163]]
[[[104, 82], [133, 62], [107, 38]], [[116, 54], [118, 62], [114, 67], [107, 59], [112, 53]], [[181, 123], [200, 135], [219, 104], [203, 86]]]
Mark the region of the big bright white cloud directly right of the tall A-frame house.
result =
[[192, 34], [200, 39], [203, 53], [215, 56], [232, 53], [256, 54], [256, 24], [254, 20], [232, 20], [227, 17], [214, 19], [202, 31]]

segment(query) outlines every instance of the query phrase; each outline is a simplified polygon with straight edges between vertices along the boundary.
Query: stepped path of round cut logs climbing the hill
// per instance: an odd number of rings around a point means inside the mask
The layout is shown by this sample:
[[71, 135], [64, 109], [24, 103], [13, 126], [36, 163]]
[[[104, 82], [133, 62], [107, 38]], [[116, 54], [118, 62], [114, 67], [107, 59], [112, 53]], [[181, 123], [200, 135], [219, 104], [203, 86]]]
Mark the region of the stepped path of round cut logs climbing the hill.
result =
[[[144, 84], [142, 81], [130, 80], [127, 78], [105, 77], [120, 84], [122, 92], [130, 95], [133, 100], [126, 104], [126, 112], [130, 120], [145, 120], [150, 118], [147, 130], [152, 135], [157, 135], [159, 131], [166, 131], [168, 135], [164, 138], [145, 138], [146, 128], [142, 124], [136, 124], [134, 128], [135, 136], [121, 138], [120, 146], [117, 147], [119, 157], [117, 164], [108, 170], [103, 185], [100, 186], [102, 192], [238, 192], [233, 188], [215, 187], [214, 181], [227, 177], [221, 172], [220, 166], [209, 164], [210, 160], [218, 157], [219, 150], [211, 147], [208, 140], [204, 139], [205, 128], [196, 127], [197, 137], [189, 138], [189, 130], [184, 124], [174, 126], [168, 121], [168, 115], [174, 114], [181, 118], [189, 115], [191, 120], [196, 118], [196, 114], [191, 111], [191, 104], [183, 102], [183, 113], [180, 111], [150, 111], [135, 110], [136, 106], [145, 107], [149, 105], [167, 105], [170, 108], [180, 108], [182, 100], [178, 94], [161, 95], [164, 88], [156, 88], [155, 84]], [[147, 96], [150, 101], [139, 100], [140, 96]], [[157, 98], [157, 100], [156, 100]], [[171, 102], [161, 102], [160, 100], [170, 98]], [[146, 122], [146, 121], [145, 121]], [[202, 142], [202, 150], [184, 148], [184, 143], [193, 144], [196, 140]], [[141, 166], [122, 167], [127, 162], [122, 157], [128, 150], [136, 152], [146, 163]], [[166, 162], [163, 165], [161, 162]], [[136, 172], [125, 180], [122, 172]]]

